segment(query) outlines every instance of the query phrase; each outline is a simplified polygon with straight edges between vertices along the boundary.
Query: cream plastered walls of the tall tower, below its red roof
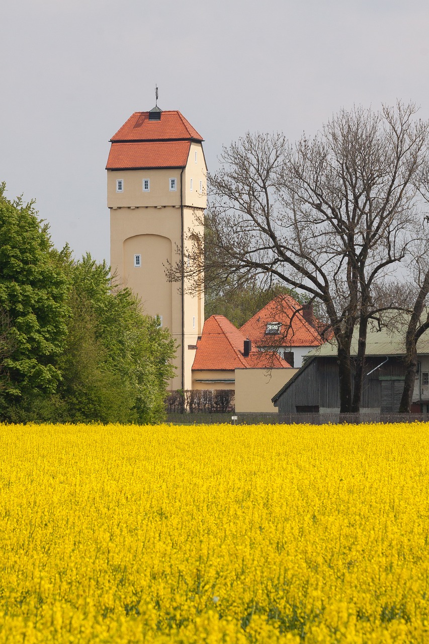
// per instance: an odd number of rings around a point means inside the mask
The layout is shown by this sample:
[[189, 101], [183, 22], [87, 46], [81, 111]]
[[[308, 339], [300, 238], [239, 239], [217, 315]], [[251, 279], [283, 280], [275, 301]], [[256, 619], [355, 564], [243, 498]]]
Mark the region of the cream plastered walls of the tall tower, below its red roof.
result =
[[[171, 178], [176, 179], [176, 191], [169, 189]], [[143, 190], [144, 179], [149, 179], [149, 191], [146, 192]], [[122, 180], [121, 192], [117, 191], [117, 180]], [[191, 294], [185, 288], [182, 328], [181, 285], [167, 281], [166, 265], [168, 261], [174, 264], [180, 260], [182, 211], [185, 256], [187, 245], [191, 243], [189, 231], [202, 233], [198, 221], [206, 205], [205, 194], [205, 160], [202, 146], [198, 143], [191, 144], [183, 172], [181, 168], [108, 171], [111, 267], [119, 281], [141, 299], [144, 312], [162, 316], [163, 326], [170, 329], [179, 345], [172, 389], [182, 387], [182, 350], [183, 386], [192, 388], [193, 347], [204, 325], [204, 294]], [[136, 254], [141, 256], [140, 267], [134, 265]]]

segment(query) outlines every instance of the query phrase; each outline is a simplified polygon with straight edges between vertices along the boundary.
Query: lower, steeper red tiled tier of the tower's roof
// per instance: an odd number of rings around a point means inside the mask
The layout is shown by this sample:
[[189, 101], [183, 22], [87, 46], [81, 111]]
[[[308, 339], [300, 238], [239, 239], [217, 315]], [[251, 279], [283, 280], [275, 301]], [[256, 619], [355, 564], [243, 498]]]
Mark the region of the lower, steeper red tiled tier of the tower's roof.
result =
[[184, 167], [190, 147], [190, 141], [112, 143], [106, 169]]

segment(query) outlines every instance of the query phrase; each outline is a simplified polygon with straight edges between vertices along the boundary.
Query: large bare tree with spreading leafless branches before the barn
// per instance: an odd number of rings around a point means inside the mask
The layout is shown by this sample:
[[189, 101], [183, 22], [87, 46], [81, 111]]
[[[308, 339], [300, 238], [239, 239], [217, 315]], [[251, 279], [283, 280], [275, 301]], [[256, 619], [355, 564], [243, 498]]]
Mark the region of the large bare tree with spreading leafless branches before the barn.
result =
[[209, 183], [211, 265], [201, 245], [190, 251], [189, 284], [204, 269], [212, 279], [256, 276], [323, 303], [338, 345], [341, 412], [359, 411], [368, 321], [396, 305], [385, 286], [422, 235], [429, 126], [416, 111], [400, 102], [342, 110], [311, 140], [248, 133], [225, 147]]

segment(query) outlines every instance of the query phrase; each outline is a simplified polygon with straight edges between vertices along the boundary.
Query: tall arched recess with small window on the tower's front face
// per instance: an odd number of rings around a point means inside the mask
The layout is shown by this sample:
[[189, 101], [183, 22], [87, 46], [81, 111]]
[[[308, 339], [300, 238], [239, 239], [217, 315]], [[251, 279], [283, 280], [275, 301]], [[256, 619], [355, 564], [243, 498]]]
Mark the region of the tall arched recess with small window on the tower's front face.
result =
[[[123, 251], [126, 285], [140, 297], [145, 313], [162, 316], [162, 326], [173, 330], [172, 284], [165, 270], [167, 262], [171, 263], [171, 240], [162, 235], [135, 235], [124, 240]], [[137, 266], [136, 256], [140, 256]]]

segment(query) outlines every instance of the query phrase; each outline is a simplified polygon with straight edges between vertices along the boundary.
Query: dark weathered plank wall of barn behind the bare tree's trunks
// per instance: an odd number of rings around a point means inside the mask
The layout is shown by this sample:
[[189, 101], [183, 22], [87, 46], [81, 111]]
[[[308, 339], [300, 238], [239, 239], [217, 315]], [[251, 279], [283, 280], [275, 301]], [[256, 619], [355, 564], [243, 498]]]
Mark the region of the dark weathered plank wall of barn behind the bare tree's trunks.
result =
[[[383, 356], [368, 357], [366, 372], [379, 366], [384, 359]], [[385, 400], [383, 405], [381, 401], [383, 380], [380, 380], [380, 377], [401, 378], [404, 375], [405, 365], [403, 360], [396, 357], [389, 358], [385, 365], [365, 377], [361, 407], [377, 408], [383, 406], [387, 408], [388, 401]], [[396, 384], [395, 399], [398, 397], [397, 391], [401, 386], [403, 385]], [[383, 391], [385, 390], [387, 390], [386, 385]], [[313, 360], [281, 395], [278, 401], [278, 410], [280, 413], [295, 413], [298, 405], [339, 408], [338, 363], [336, 358], [321, 357]], [[396, 406], [396, 401], [392, 401], [389, 410], [395, 411]]]

